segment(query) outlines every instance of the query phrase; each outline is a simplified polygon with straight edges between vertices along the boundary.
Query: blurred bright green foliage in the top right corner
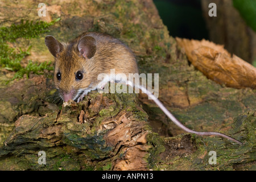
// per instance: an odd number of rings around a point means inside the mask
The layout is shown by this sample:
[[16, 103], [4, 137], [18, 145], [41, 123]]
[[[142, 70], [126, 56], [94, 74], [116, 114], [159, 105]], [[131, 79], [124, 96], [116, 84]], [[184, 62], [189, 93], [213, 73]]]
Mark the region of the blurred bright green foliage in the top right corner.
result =
[[256, 31], [256, 1], [233, 0], [233, 5], [240, 12], [247, 25]]

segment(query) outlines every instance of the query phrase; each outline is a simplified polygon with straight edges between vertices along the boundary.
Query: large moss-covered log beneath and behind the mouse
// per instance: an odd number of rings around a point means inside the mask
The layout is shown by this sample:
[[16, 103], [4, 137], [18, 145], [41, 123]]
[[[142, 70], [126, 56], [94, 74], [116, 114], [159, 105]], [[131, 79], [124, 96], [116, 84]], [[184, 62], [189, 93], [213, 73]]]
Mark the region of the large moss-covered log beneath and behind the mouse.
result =
[[[3, 3], [1, 23], [39, 19], [28, 13], [37, 5]], [[44, 20], [61, 18], [49, 35], [70, 40], [83, 31], [99, 31], [121, 39], [137, 56], [140, 73], [159, 73], [159, 99], [179, 121], [244, 144], [184, 133], [144, 94], [91, 92], [79, 104], [64, 106], [52, 73], [31, 73], [29, 79], [5, 85], [14, 73], [1, 69], [1, 170], [255, 169], [256, 91], [218, 85], [197, 71], [152, 1], [55, 1], [47, 6]], [[33, 46], [26, 59], [52, 59], [44, 35], [27, 41], [16, 42]], [[39, 151], [46, 152], [46, 164], [38, 163]], [[216, 164], [209, 163], [210, 151], [216, 152]]]

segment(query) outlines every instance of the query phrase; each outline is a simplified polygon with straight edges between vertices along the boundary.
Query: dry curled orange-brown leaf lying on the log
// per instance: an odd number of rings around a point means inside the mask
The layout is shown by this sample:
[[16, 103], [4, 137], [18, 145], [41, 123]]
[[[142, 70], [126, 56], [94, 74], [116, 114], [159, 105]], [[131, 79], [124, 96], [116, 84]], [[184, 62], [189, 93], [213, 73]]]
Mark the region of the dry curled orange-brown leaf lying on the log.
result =
[[204, 39], [176, 40], [185, 49], [188, 60], [211, 80], [233, 88], [256, 88], [256, 68], [236, 55], [231, 56], [224, 46]]

